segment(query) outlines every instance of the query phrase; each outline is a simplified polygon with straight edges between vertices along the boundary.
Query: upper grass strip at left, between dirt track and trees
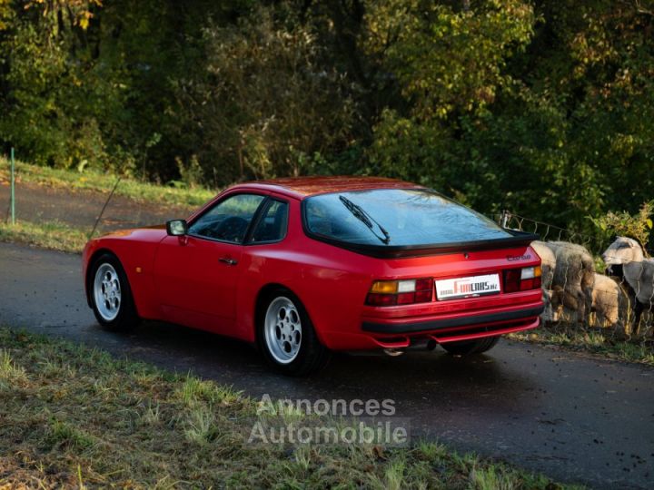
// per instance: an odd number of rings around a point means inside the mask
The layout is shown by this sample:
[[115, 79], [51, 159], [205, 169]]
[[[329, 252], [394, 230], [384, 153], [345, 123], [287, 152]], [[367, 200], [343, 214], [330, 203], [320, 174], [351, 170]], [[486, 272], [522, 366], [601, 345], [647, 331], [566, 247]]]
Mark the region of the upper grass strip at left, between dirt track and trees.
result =
[[[9, 178], [9, 161], [0, 156], [0, 182], [9, 181]], [[16, 162], [16, 180], [72, 191], [110, 192], [114, 188], [117, 176], [91, 170], [80, 172]], [[211, 199], [216, 191], [200, 187], [184, 189], [134, 179], [123, 179], [118, 184], [115, 193], [134, 201], [194, 208]]]

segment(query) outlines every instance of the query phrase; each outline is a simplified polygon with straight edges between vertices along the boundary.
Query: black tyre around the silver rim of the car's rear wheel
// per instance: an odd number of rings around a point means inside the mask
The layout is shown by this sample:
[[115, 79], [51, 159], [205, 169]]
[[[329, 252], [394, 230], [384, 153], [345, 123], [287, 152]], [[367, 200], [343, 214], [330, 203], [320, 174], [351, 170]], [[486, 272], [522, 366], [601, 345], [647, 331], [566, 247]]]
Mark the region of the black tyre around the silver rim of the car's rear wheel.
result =
[[[282, 302], [283, 305], [284, 300], [290, 300], [292, 306], [297, 311], [302, 335], [295, 357], [292, 358], [292, 360], [287, 359], [285, 362], [282, 362], [274, 353], [274, 340], [266, 335], [266, 316], [269, 309], [272, 308], [273, 311], [275, 305], [280, 302]], [[263, 300], [260, 301], [256, 313], [257, 344], [263, 353], [263, 357], [273, 368], [284, 375], [300, 377], [318, 372], [327, 366], [327, 363], [331, 358], [331, 352], [328, 348], [325, 348], [318, 339], [312, 321], [302, 305], [302, 301], [300, 301], [300, 299], [298, 299], [290, 290], [275, 289], [267, 294]], [[275, 317], [279, 319], [279, 316], [275, 315]], [[277, 328], [277, 330], [279, 330], [279, 328]]]

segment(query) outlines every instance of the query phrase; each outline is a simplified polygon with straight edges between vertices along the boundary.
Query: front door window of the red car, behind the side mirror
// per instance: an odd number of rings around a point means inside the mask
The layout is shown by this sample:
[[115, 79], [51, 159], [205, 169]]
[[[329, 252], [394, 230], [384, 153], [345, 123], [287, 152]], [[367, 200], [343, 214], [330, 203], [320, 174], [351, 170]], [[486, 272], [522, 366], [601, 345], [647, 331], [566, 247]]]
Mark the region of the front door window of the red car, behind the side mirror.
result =
[[189, 234], [243, 243], [250, 221], [263, 199], [255, 194], [237, 194], [220, 201], [189, 227]]

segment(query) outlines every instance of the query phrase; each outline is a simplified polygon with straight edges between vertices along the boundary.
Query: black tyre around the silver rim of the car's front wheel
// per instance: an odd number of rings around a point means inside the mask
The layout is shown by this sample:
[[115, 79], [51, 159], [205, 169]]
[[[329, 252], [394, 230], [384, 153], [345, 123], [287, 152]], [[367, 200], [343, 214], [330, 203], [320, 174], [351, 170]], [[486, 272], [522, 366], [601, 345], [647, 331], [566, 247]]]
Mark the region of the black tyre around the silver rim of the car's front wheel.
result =
[[[117, 312], [114, 314], [114, 311], [112, 311], [111, 315], [107, 315], [107, 309], [109, 308], [107, 306], [108, 303], [105, 303], [106, 308], [98, 306], [99, 298], [97, 296], [102, 293], [95, 290], [95, 281], [98, 271], [104, 269], [105, 272], [111, 273], [109, 268], [115, 271], [115, 279], [118, 281], [118, 291], [120, 293], [120, 299], [117, 303], [118, 306], [115, 309], [113, 306], [111, 307], [112, 309], [117, 310]], [[104, 253], [94, 260], [87, 278], [87, 288], [95, 319], [97, 319], [98, 323], [104, 328], [115, 332], [126, 332], [134, 329], [138, 325], [140, 319], [136, 313], [136, 307], [134, 306], [132, 289], [127, 280], [127, 275], [124, 272], [123, 265], [114, 254]]]

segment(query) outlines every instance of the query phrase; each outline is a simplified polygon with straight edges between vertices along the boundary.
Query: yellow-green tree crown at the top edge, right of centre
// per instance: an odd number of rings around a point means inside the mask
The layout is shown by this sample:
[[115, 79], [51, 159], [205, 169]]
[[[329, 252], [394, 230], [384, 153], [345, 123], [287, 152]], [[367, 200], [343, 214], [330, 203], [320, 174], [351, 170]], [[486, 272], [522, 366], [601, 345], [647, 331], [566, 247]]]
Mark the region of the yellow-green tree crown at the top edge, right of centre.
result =
[[428, 0], [384, 0], [367, 15], [368, 44], [381, 56], [421, 120], [480, 113], [510, 82], [507, 58], [526, 47], [531, 5], [491, 0], [455, 9]]

